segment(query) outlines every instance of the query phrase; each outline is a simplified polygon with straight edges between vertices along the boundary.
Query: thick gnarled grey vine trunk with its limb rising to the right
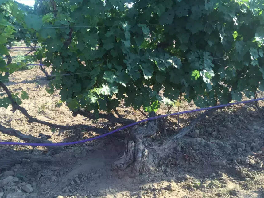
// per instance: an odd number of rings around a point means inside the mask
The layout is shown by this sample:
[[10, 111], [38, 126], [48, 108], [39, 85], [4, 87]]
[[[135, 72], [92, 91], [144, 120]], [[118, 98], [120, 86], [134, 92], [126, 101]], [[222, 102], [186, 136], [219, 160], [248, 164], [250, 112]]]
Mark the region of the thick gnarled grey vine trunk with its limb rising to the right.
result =
[[[134, 176], [143, 171], [150, 171], [157, 168], [162, 158], [169, 155], [176, 142], [184, 135], [188, 134], [198, 122], [218, 108], [205, 111], [190, 124], [181, 129], [179, 133], [173, 135], [163, 142], [159, 147], [150, 147], [150, 138], [157, 133], [157, 120], [148, 121], [145, 126], [134, 126], [125, 138], [125, 149], [122, 156], [112, 165], [112, 169], [123, 171], [130, 167]], [[152, 116], [150, 116], [152, 117]]]

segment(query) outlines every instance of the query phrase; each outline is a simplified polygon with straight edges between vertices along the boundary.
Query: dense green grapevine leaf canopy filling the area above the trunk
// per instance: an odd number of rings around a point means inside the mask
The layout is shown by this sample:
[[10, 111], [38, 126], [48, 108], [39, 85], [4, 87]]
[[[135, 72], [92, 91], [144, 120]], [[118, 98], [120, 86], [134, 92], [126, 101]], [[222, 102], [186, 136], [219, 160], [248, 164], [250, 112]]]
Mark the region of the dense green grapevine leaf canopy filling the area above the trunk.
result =
[[[18, 7], [1, 5], [9, 11], [0, 14], [0, 53], [17, 34], [38, 38], [37, 59], [58, 75], [49, 92], [60, 90], [72, 111], [109, 111], [124, 99], [150, 112], [181, 94], [205, 107], [264, 91], [263, 0], [38, 0], [34, 10]], [[0, 71], [12, 67], [19, 66], [1, 62]], [[60, 75], [71, 73], [81, 74]]]

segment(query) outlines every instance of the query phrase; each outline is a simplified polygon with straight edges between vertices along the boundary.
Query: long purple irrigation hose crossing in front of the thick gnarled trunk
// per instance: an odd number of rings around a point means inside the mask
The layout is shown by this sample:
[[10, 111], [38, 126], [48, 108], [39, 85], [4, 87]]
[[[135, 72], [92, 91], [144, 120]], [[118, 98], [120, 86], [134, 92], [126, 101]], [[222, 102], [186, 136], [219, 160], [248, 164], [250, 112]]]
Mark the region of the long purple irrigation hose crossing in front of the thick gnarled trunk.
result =
[[221, 105], [217, 105], [217, 106], [213, 106], [213, 107], [205, 107], [205, 108], [201, 108], [201, 109], [182, 111], [182, 112], [166, 114], [166, 115], [159, 115], [159, 116], [155, 116], [155, 117], [148, 118], [148, 119], [145, 119], [145, 120], [141, 120], [141, 121], [138, 121], [138, 122], [134, 122], [134, 123], [126, 125], [126, 126], [122, 126], [122, 127], [118, 128], [118, 129], [115, 129], [115, 130], [110, 131], [110, 132], [108, 132], [106, 134], [103, 134], [103, 135], [96, 136], [94, 138], [89, 138], [89, 139], [80, 140], [80, 141], [76, 141], [76, 142], [61, 142], [61, 143], [0, 142], [0, 145], [3, 144], [3, 145], [27, 145], [27, 146], [66, 146], [66, 145], [72, 145], [72, 144], [80, 144], [80, 143], [96, 140], [96, 139], [99, 139], [99, 138], [103, 138], [103, 137], [105, 137], [107, 135], [110, 135], [110, 134], [113, 134], [113, 133], [118, 132], [120, 130], [126, 129], [126, 128], [130, 127], [130, 126], [134, 126], [136, 124], [139, 124], [139, 123], [142, 123], [142, 122], [146, 122], [146, 121], [149, 121], [149, 120], [154, 120], [154, 119], [157, 119], [157, 118], [164, 118], [164, 117], [171, 116], [171, 115], [180, 115], [180, 114], [192, 113], [192, 112], [196, 112], [196, 111], [203, 111], [203, 110], [215, 109], [215, 108], [220, 108], [220, 107], [227, 107], [227, 106], [236, 105], [236, 104], [242, 104], [242, 103], [250, 103], [250, 102], [255, 102], [255, 101], [259, 101], [259, 100], [264, 100], [264, 98], [246, 100], [246, 101], [241, 101], [241, 102], [236, 102], [236, 103], [229, 103], [229, 104], [221, 104]]

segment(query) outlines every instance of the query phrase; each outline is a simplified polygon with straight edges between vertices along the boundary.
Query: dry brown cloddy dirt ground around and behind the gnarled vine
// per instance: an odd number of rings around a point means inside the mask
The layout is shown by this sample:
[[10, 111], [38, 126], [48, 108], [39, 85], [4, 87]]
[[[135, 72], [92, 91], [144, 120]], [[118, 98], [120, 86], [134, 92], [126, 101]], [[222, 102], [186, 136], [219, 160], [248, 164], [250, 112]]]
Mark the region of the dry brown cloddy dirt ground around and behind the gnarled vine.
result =
[[[22, 51], [19, 53], [24, 53]], [[12, 55], [17, 50], [12, 50]], [[58, 93], [45, 91], [49, 80], [43, 77], [39, 68], [21, 70], [10, 76], [6, 83], [12, 93], [27, 91], [29, 99], [22, 106], [37, 118], [62, 125], [89, 124], [106, 126], [107, 121], [99, 119], [94, 123], [78, 115], [73, 117], [60, 100]], [[5, 96], [0, 90], [0, 97]], [[259, 93], [259, 97], [264, 97]], [[244, 98], [246, 99], [246, 98]], [[168, 153], [152, 172], [137, 177], [130, 176], [130, 169], [124, 172], [111, 170], [112, 163], [122, 152], [116, 146], [118, 139], [109, 138], [80, 145], [65, 146], [51, 157], [56, 163], [36, 163], [24, 160], [0, 172], [0, 198], [12, 197], [264, 197], [264, 102], [241, 104], [215, 111], [184, 138], [175, 142], [174, 150]], [[157, 114], [165, 114], [162, 106]], [[193, 103], [182, 102], [180, 111], [197, 108]], [[132, 108], [119, 107], [125, 118], [142, 120], [145, 117]], [[173, 107], [170, 112], [176, 112]], [[200, 113], [180, 116], [180, 129]], [[177, 117], [167, 121], [167, 137], [163, 133], [163, 120], [158, 120], [160, 134], [152, 138], [152, 146], [177, 134]], [[13, 127], [25, 134], [37, 137], [40, 133], [51, 135], [52, 142], [69, 142], [93, 137], [97, 134], [81, 130], [56, 130], [36, 123], [29, 124], [19, 112], [11, 108], [0, 108], [0, 123]], [[144, 125], [144, 124], [143, 124]], [[111, 130], [120, 127], [111, 124]], [[125, 132], [125, 131], [124, 131]], [[0, 133], [0, 141], [17, 142], [19, 139]], [[32, 155], [47, 156], [45, 148], [31, 146], [0, 146], [1, 149], [21, 150]], [[8, 156], [12, 157], [12, 156]]]

